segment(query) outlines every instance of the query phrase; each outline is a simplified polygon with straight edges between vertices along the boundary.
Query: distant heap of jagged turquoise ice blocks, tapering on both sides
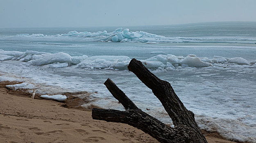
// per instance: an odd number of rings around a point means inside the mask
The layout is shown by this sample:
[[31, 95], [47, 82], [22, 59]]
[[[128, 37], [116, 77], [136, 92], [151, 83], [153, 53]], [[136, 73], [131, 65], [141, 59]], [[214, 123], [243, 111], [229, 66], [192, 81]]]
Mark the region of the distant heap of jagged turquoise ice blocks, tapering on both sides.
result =
[[[172, 38], [172, 37], [165, 37], [159, 36], [156, 34], [150, 34], [144, 31], [129, 31], [129, 29], [122, 29], [118, 28], [112, 32], [98, 31], [98, 32], [77, 32], [77, 31], [70, 31], [67, 34], [57, 34], [57, 35], [44, 35], [44, 34], [17, 34], [18, 38], [91, 38], [93, 41], [100, 41], [100, 42], [149, 42], [149, 43], [161, 43], [161, 42], [183, 42], [179, 40], [179, 38]], [[8, 38], [7, 38], [8, 39]]]

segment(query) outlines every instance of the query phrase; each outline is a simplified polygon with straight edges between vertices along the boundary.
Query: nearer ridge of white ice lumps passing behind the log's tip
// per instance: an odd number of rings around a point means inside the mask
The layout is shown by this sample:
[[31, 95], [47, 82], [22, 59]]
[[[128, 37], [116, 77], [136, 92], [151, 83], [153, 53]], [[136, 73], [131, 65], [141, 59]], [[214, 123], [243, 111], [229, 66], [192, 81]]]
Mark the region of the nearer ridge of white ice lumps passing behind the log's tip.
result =
[[[158, 53], [158, 52], [157, 52]], [[70, 56], [67, 53], [59, 52], [55, 54], [38, 52], [38, 51], [4, 51], [0, 50], [0, 60], [19, 60], [31, 65], [48, 66], [51, 68], [63, 68], [76, 66], [77, 68], [86, 69], [110, 69], [123, 70], [127, 69], [131, 58], [127, 56]], [[186, 67], [224, 67], [229, 65], [256, 66], [256, 60], [248, 62], [244, 58], [226, 58], [213, 56], [213, 59], [206, 57], [197, 57], [194, 54], [188, 56], [175, 56], [172, 54], [153, 56], [146, 60], [140, 60], [147, 68], [152, 69], [175, 69]]]

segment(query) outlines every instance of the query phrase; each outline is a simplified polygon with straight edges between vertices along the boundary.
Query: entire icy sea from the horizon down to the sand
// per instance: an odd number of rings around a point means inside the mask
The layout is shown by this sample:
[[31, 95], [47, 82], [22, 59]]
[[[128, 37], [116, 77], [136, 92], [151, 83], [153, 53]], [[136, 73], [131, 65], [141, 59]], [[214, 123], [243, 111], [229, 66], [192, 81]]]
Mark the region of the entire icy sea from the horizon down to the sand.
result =
[[24, 81], [10, 87], [41, 94], [93, 92], [83, 106], [123, 109], [103, 85], [111, 78], [143, 111], [172, 125], [127, 70], [136, 58], [171, 83], [199, 127], [256, 142], [255, 22], [127, 28], [0, 29], [0, 81]]

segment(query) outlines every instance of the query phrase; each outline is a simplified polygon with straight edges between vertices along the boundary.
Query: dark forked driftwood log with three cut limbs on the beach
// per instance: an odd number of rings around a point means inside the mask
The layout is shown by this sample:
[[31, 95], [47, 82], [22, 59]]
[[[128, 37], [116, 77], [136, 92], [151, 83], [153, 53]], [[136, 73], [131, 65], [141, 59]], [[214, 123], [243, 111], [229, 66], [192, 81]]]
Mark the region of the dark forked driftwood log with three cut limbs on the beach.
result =
[[161, 101], [166, 112], [172, 118], [174, 128], [165, 125], [156, 118], [143, 112], [122, 92], [111, 79], [104, 85], [125, 107], [125, 111], [93, 108], [92, 117], [96, 120], [126, 123], [150, 134], [161, 143], [207, 143], [195, 122], [193, 112], [186, 109], [167, 81], [157, 78], [139, 60], [135, 58], [128, 65], [154, 95]]

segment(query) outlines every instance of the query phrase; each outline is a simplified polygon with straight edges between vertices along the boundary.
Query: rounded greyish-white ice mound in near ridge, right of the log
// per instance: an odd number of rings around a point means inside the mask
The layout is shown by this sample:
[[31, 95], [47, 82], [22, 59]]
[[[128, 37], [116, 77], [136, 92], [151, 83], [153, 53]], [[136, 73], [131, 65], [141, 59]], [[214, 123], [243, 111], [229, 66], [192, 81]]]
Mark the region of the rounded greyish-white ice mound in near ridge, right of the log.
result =
[[189, 67], [209, 67], [210, 63], [205, 63], [198, 57], [187, 56], [184, 60], [180, 62], [180, 64], [188, 65]]

